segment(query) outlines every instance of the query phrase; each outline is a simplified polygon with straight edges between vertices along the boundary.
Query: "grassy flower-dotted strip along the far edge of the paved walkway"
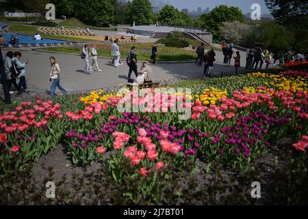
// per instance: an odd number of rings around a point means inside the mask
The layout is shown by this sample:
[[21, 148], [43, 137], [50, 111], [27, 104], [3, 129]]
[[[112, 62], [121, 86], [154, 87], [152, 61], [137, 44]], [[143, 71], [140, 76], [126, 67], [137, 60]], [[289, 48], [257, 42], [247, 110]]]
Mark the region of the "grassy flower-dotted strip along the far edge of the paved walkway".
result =
[[[150, 61], [152, 43], [138, 43], [138, 44], [120, 44], [120, 53], [123, 60], [126, 59], [127, 53], [129, 53], [131, 46], [136, 46], [136, 53], [138, 60]], [[91, 45], [90, 45], [91, 46]], [[57, 51], [64, 53], [80, 54], [81, 48], [79, 47], [51, 47], [44, 48], [46, 51]], [[100, 56], [111, 57], [110, 44], [97, 45], [97, 52]], [[159, 47], [159, 54], [157, 55], [157, 61], [192, 61], [196, 59], [196, 53], [194, 51], [187, 51], [183, 49], [173, 47]]]

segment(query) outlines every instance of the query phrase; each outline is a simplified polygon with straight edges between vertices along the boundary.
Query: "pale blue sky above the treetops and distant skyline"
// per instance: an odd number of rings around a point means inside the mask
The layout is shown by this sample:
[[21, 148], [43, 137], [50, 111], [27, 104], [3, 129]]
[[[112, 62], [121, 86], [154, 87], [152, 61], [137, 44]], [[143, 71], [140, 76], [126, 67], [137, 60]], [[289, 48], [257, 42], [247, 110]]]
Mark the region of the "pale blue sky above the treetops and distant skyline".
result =
[[209, 7], [209, 10], [211, 10], [217, 5], [236, 6], [240, 8], [244, 14], [253, 11], [251, 9], [253, 3], [259, 3], [259, 5], [261, 5], [261, 14], [270, 14], [268, 8], [266, 8], [265, 1], [263, 0], [166, 0], [166, 2], [174, 5], [180, 10], [188, 8], [190, 11], [196, 11], [198, 7], [201, 7], [202, 10]]

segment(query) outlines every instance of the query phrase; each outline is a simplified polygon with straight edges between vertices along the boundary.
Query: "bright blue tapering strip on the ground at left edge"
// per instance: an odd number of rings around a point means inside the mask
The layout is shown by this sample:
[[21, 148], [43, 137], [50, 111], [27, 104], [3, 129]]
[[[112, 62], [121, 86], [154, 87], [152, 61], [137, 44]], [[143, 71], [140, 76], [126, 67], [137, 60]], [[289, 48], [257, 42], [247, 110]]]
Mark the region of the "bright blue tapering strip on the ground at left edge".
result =
[[49, 40], [49, 39], [42, 39], [42, 40], [34, 40], [34, 36], [27, 36], [27, 35], [22, 35], [22, 34], [12, 34], [12, 33], [1, 33], [3, 37], [5, 38], [6, 44], [10, 44], [10, 40], [13, 36], [17, 36], [19, 39], [18, 44], [25, 44], [25, 45], [30, 45], [34, 47], [40, 46], [40, 44], [66, 44], [68, 41], [63, 41], [63, 40]]

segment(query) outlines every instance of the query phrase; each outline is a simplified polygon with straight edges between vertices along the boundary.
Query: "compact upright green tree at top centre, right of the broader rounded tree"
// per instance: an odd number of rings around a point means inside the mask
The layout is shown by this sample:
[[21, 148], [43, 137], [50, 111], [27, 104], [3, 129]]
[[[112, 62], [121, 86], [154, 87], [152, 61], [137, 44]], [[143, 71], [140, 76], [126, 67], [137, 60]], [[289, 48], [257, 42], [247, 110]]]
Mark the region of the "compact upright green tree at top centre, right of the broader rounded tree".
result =
[[153, 10], [149, 0], [129, 1], [125, 10], [125, 21], [128, 24], [150, 25], [153, 24]]

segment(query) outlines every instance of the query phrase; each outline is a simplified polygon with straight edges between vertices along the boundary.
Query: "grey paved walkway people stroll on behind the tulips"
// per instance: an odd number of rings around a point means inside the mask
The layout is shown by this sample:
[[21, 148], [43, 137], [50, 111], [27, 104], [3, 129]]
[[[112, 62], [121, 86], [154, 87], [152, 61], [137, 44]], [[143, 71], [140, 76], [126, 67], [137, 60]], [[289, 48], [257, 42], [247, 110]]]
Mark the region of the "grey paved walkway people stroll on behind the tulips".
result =
[[[3, 50], [3, 55], [7, 50]], [[99, 58], [99, 66], [102, 73], [92, 72], [91, 75], [84, 74], [84, 60], [79, 55], [65, 55], [46, 53], [41, 51], [22, 51], [22, 61], [29, 60], [27, 69], [27, 86], [31, 92], [42, 92], [49, 90], [51, 83], [49, 81], [50, 64], [49, 57], [55, 56], [61, 68], [61, 83], [68, 91], [89, 90], [96, 88], [108, 88], [118, 86], [120, 83], [127, 83], [128, 66], [123, 60], [120, 68], [111, 66], [111, 60]], [[234, 71], [234, 61], [232, 66], [224, 66], [219, 63], [221, 55], [217, 55], [217, 61], [212, 70], [213, 73], [221, 74], [222, 72]], [[123, 56], [123, 58], [125, 58]], [[245, 62], [242, 62], [245, 64]], [[138, 63], [140, 68], [141, 63]], [[153, 76], [155, 80], [185, 78], [185, 77], [202, 77], [203, 66], [196, 66], [194, 63], [185, 64], [157, 64], [153, 66]], [[132, 77], [134, 75], [132, 74]], [[59, 90], [57, 90], [59, 91]]]

